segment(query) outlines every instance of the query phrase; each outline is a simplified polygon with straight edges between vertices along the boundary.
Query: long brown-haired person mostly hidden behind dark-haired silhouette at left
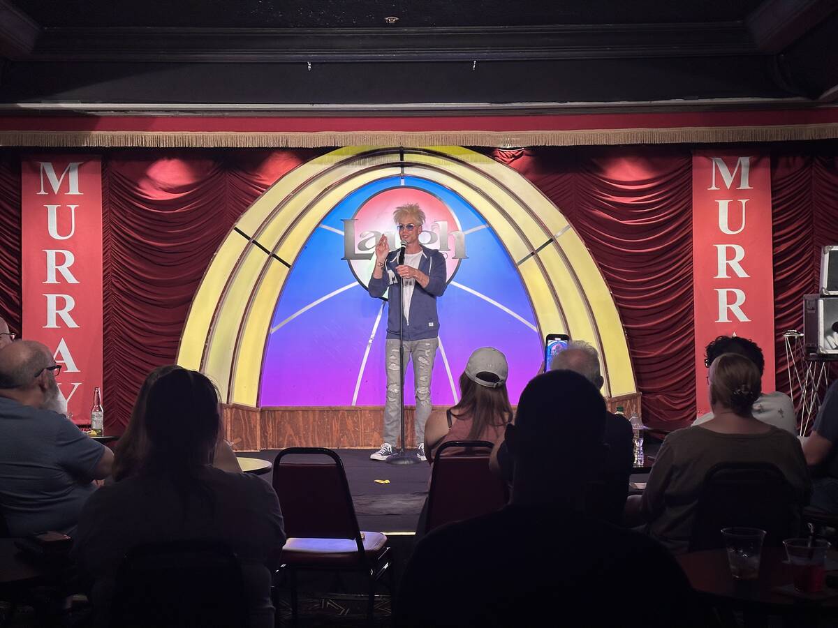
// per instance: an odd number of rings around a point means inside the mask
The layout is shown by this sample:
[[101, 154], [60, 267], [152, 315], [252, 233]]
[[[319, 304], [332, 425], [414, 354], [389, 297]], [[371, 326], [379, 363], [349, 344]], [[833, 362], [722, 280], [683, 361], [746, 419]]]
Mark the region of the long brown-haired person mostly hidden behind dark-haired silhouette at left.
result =
[[[131, 411], [131, 419], [116, 443], [113, 471], [111, 471], [114, 481], [122, 481], [127, 477], [137, 475], [148, 451], [148, 435], [145, 425], [148, 391], [151, 390], [158, 378], [162, 378], [163, 375], [167, 375], [177, 368], [180, 367], [176, 364], [167, 364], [155, 368], [151, 373], [148, 373], [146, 380], [142, 383], [140, 392], [137, 394], [137, 401], [134, 402]], [[241, 471], [235, 453], [221, 436], [221, 433], [219, 433], [219, 440], [215, 445], [213, 454], [213, 466], [222, 471]]]

